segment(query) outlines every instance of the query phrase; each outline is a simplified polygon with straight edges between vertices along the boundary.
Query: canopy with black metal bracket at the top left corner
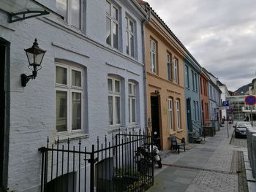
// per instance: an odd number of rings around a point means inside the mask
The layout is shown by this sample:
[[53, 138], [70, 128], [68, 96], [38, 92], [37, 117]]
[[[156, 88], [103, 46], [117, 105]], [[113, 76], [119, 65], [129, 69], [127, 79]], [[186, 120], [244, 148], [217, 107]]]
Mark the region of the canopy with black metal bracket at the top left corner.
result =
[[64, 19], [57, 12], [35, 0], [0, 0], [0, 9], [9, 15], [9, 23], [42, 15]]

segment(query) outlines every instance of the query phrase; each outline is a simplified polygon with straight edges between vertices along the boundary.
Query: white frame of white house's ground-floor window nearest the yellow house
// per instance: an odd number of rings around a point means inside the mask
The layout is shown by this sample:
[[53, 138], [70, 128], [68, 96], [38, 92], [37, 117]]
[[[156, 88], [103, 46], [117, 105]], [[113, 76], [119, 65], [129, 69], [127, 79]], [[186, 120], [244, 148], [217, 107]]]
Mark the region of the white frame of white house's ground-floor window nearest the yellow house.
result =
[[[132, 87], [132, 93], [129, 93], [129, 85], [131, 85]], [[132, 109], [132, 100], [134, 100], [135, 102], [135, 109]], [[136, 112], [136, 109], [137, 109], [137, 104], [136, 104], [136, 84], [135, 82], [131, 82], [129, 81], [128, 82], [128, 104], [129, 104], [129, 124], [135, 124], [137, 122], [137, 112]], [[132, 112], [135, 112], [135, 120], [133, 121], [132, 120]]]

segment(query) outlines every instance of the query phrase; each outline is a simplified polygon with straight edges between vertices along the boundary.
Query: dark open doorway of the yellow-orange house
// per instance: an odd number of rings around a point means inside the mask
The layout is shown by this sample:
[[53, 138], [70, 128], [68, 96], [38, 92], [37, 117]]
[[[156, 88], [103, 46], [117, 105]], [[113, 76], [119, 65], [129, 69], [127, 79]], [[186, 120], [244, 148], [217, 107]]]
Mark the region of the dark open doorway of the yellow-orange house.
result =
[[151, 96], [151, 121], [152, 121], [152, 134], [154, 134], [155, 145], [161, 149], [160, 142], [160, 128], [159, 128], [159, 96]]

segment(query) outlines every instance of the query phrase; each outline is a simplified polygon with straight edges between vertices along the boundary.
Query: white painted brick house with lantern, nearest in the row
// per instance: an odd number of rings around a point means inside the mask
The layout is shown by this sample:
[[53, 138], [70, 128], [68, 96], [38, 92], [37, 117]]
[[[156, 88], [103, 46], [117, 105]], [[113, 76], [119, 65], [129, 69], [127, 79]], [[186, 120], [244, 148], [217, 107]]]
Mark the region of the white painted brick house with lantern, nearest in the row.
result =
[[[13, 12], [25, 10], [23, 1], [4, 0], [1, 9], [10, 12], [11, 4]], [[97, 136], [119, 128], [146, 126], [145, 12], [134, 0], [63, 2], [40, 1], [64, 20], [53, 16], [9, 23], [8, 14], [0, 11], [0, 188], [9, 191], [39, 191], [38, 148], [48, 136], [50, 144], [70, 137], [91, 145]], [[47, 52], [37, 78], [23, 88], [20, 74], [31, 74], [24, 49], [35, 38]]]

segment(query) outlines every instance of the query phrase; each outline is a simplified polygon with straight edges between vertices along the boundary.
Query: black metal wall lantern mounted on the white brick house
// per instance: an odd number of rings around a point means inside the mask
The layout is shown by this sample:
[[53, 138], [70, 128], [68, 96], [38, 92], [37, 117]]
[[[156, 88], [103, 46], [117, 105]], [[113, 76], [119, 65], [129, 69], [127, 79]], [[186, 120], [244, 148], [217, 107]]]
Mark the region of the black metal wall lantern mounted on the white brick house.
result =
[[34, 39], [33, 46], [29, 49], [26, 49], [25, 52], [29, 60], [28, 68], [31, 69], [32, 74], [29, 76], [26, 74], [20, 74], [21, 85], [23, 87], [26, 87], [26, 83], [29, 82], [30, 79], [34, 80], [37, 77], [37, 71], [42, 69], [42, 58], [44, 57], [46, 50], [40, 49], [37, 43], [37, 39]]

